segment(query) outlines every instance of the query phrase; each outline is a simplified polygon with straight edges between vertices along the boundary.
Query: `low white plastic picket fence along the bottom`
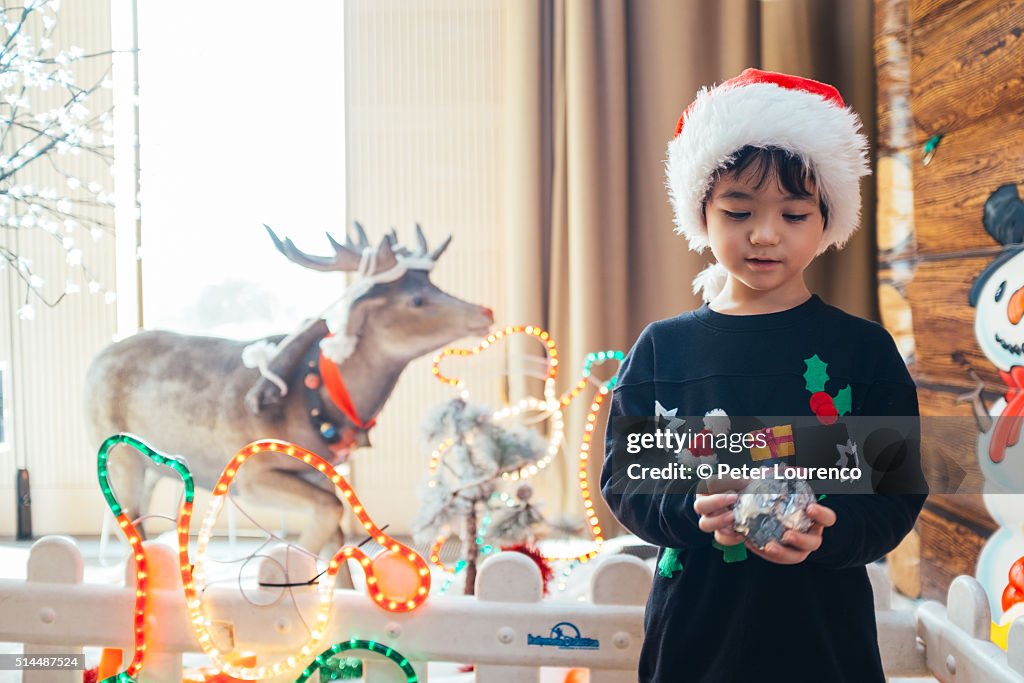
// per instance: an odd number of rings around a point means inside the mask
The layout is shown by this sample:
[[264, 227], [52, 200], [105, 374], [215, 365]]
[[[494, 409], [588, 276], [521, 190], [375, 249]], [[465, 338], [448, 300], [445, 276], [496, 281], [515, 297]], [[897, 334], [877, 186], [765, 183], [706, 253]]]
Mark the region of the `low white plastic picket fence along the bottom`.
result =
[[[177, 557], [160, 543], [146, 547], [153, 595], [140, 681], [180, 683], [182, 654], [200, 650], [180, 590]], [[280, 574], [284, 552], [275, 550], [278, 557], [265, 561], [260, 572], [265, 568]], [[289, 558], [289, 566], [295, 566], [295, 558], [294, 554]], [[483, 563], [475, 597], [434, 596], [409, 614], [384, 611], [362, 593], [339, 590], [326, 642], [360, 638], [386, 643], [409, 657], [420, 681], [427, 681], [428, 661], [474, 664], [480, 683], [537, 683], [541, 667], [587, 668], [592, 683], [635, 681], [651, 570], [629, 556], [599, 562], [587, 601], [542, 599], [537, 566], [518, 553], [501, 553]], [[132, 566], [126, 567], [126, 577], [125, 587], [85, 584], [82, 554], [72, 540], [40, 540], [30, 553], [26, 581], [0, 580], [0, 642], [24, 643], [30, 655], [77, 653], [83, 646], [130, 652]], [[891, 608], [892, 589], [883, 571], [872, 570], [871, 582], [879, 645], [890, 677], [934, 676], [956, 683], [1024, 681], [1024, 620], [1010, 630], [1009, 653], [989, 642], [988, 601], [974, 579], [959, 577], [953, 582], [948, 607], [927, 602], [913, 610]], [[306, 632], [290, 601], [255, 608], [236, 586], [213, 586], [204, 599], [218, 620], [236, 625], [234, 645], [240, 650], [276, 659], [303, 644]], [[302, 589], [296, 600], [303, 613], [311, 613], [315, 588]], [[590, 642], [588, 649], [573, 648], [568, 641], [560, 647], [557, 638], [537, 644], [537, 637], [547, 639], [562, 623], [574, 625], [580, 636], [593, 639], [596, 646]], [[351, 654], [364, 658], [368, 683], [404, 680], [393, 664], [378, 655]], [[78, 683], [81, 672], [27, 671], [23, 680]]]

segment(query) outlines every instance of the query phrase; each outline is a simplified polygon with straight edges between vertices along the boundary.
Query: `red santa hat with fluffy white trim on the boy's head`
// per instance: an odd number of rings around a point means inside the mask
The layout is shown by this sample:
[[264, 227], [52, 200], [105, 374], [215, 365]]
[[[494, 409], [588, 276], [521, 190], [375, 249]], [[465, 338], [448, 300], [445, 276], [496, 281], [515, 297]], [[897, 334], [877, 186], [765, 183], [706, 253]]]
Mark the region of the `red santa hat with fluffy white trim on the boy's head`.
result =
[[[811, 170], [828, 207], [818, 254], [841, 249], [860, 223], [861, 176], [870, 173], [860, 119], [839, 90], [799, 76], [748, 69], [714, 88], [701, 88], [676, 125], [669, 143], [669, 197], [676, 232], [690, 249], [708, 247], [701, 204], [716, 170], [746, 145], [777, 147]], [[722, 289], [725, 268], [716, 263], [693, 281], [710, 301]]]

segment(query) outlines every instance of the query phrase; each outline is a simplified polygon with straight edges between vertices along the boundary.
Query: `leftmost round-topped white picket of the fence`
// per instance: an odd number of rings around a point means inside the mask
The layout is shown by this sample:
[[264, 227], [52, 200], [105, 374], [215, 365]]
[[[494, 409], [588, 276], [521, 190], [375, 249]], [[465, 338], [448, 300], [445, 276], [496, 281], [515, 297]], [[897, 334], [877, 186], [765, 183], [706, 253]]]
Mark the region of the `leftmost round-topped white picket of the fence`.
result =
[[[47, 536], [33, 544], [32, 550], [29, 551], [26, 580], [33, 584], [81, 584], [83, 568], [82, 552], [74, 541], [62, 536]], [[60, 607], [61, 605], [56, 603], [45, 605], [39, 609], [34, 618], [47, 625], [48, 628], [52, 629], [54, 635], [59, 634], [62, 627]], [[26, 643], [25, 654], [26, 656], [54, 654], [82, 656], [82, 646]], [[26, 670], [22, 677], [24, 683], [74, 683], [81, 680], [81, 670]]]

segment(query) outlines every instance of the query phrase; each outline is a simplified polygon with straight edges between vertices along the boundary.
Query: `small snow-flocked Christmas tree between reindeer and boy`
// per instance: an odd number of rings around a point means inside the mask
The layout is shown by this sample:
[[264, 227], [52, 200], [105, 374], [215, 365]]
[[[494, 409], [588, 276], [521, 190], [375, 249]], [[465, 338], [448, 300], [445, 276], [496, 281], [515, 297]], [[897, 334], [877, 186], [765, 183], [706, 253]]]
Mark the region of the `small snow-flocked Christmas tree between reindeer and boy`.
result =
[[461, 535], [466, 595], [473, 594], [476, 583], [477, 539], [485, 515], [492, 519], [487, 538], [502, 543], [532, 542], [536, 527], [544, 521], [530, 504], [529, 486], [520, 485], [516, 502], [509, 504], [502, 500], [499, 484], [503, 475], [540, 460], [547, 442], [528, 427], [496, 422], [493, 413], [485, 405], [456, 398], [432, 410], [422, 428], [431, 449], [442, 442], [450, 445], [425, 481], [413, 532], [423, 544], [447, 529]]

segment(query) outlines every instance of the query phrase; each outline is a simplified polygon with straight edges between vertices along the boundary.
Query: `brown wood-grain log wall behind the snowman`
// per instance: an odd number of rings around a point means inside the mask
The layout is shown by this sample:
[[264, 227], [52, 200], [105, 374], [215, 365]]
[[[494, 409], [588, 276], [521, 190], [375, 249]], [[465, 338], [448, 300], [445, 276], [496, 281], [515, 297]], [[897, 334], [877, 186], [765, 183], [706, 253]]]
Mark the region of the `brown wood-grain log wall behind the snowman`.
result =
[[[930, 481], [963, 474], [973, 490], [982, 483], [977, 433], [956, 398], [975, 387], [969, 368], [989, 403], [1006, 390], [978, 348], [968, 294], [1000, 251], [982, 223], [985, 202], [1024, 178], [1022, 29], [1024, 0], [876, 2], [878, 177], [892, 184], [879, 191], [882, 316], [919, 384], [922, 415], [963, 419], [923, 434]], [[936, 134], [925, 165], [922, 147]], [[974, 573], [994, 528], [979, 494], [930, 497], [920, 544], [903, 549], [920, 553], [920, 582], [907, 583], [944, 599], [955, 575]]]

